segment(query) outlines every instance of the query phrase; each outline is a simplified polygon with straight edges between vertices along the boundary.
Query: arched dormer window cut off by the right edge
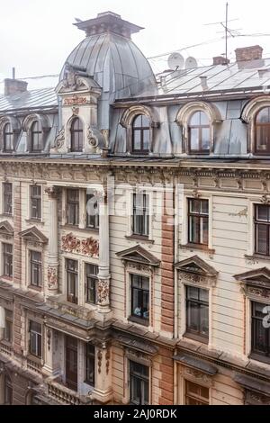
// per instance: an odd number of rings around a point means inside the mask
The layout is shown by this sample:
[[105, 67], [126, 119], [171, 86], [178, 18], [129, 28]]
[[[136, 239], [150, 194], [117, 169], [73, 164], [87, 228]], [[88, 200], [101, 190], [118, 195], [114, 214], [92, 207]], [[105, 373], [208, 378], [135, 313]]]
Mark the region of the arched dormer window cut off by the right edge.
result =
[[256, 116], [256, 152], [270, 153], [270, 107], [264, 107]]

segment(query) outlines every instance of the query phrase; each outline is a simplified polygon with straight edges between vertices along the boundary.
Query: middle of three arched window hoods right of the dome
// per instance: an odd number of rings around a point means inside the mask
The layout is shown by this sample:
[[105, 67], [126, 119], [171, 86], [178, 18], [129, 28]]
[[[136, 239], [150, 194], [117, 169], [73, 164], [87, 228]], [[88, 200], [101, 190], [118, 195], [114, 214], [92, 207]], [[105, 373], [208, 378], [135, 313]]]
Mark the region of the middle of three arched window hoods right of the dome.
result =
[[220, 123], [222, 121], [219, 109], [211, 103], [191, 102], [184, 104], [176, 115], [176, 123], [180, 126], [187, 125], [194, 112], [205, 112], [211, 123]]

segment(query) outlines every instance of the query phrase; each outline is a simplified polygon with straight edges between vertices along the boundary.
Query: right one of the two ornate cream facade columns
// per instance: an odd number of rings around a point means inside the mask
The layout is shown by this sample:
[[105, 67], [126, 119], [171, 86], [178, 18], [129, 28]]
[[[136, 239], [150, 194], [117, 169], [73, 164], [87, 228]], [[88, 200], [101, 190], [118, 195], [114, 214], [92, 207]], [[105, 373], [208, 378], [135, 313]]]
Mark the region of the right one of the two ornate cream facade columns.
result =
[[110, 307], [110, 238], [109, 208], [106, 190], [99, 202], [99, 274], [97, 286], [97, 304], [99, 312], [109, 313]]

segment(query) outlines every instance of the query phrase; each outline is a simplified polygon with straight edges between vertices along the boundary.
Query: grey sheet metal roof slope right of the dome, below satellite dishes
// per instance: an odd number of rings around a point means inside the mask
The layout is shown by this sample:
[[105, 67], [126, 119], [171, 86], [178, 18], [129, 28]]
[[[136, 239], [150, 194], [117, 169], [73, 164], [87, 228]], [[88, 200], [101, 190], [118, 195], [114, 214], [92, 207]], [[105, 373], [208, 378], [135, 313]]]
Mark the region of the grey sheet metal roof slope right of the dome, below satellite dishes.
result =
[[[205, 78], [202, 80], [202, 78]], [[243, 90], [270, 85], [270, 58], [180, 70], [162, 78], [159, 94]], [[204, 89], [202, 87], [204, 86]]]

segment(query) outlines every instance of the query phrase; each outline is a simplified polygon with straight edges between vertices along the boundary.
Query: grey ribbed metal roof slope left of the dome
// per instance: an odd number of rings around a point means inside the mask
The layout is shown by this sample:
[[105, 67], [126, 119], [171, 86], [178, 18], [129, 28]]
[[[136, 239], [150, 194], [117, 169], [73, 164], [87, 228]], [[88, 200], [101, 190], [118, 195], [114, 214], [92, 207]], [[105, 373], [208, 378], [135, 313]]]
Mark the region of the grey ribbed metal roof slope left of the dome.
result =
[[58, 105], [58, 97], [54, 88], [41, 88], [13, 95], [0, 94], [0, 112], [21, 109], [40, 109]]

